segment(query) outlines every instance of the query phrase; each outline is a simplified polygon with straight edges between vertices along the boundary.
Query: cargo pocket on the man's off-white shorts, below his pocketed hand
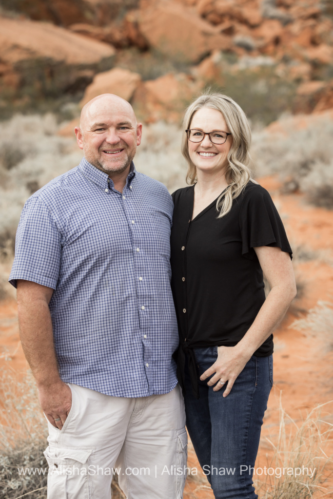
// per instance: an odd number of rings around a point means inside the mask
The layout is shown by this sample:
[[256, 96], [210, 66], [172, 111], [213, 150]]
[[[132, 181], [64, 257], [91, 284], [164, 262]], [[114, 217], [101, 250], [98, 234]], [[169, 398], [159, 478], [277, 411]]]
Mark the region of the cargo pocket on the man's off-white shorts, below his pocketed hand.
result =
[[91, 453], [86, 449], [47, 447], [44, 456], [48, 463], [48, 499], [93, 498], [88, 473]]

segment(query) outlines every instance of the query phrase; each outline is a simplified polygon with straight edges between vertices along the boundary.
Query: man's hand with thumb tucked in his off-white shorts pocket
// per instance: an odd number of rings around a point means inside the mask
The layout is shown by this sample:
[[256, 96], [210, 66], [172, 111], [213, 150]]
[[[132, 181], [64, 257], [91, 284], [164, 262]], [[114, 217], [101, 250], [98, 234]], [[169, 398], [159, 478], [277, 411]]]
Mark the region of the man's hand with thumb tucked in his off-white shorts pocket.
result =
[[72, 392], [69, 386], [61, 380], [52, 385], [39, 385], [38, 396], [48, 421], [61, 430], [72, 405]]

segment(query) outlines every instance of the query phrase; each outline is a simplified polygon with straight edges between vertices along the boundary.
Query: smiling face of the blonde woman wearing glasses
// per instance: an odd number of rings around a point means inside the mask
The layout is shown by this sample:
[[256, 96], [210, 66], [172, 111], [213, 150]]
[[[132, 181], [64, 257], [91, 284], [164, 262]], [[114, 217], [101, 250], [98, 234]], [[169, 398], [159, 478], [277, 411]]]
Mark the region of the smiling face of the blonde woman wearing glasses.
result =
[[[209, 133], [230, 132], [222, 113], [209, 107], [202, 107], [194, 113], [189, 128]], [[213, 144], [208, 135], [205, 135], [202, 142], [188, 140], [189, 155], [197, 171], [214, 173], [225, 170], [232, 141], [231, 135], [228, 135], [224, 144]]]

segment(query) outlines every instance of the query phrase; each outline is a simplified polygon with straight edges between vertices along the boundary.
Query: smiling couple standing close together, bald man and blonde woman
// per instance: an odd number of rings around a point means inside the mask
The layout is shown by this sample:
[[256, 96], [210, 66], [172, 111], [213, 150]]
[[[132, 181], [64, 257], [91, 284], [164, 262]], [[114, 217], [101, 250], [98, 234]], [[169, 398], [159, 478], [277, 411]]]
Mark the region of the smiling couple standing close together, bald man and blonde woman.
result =
[[108, 499], [117, 467], [127, 498], [182, 498], [186, 413], [215, 497], [254, 499], [240, 470], [255, 465], [272, 333], [296, 293], [292, 250], [251, 180], [250, 127], [231, 98], [188, 107], [191, 185], [172, 198], [135, 171], [141, 131], [120, 97], [91, 100], [81, 163], [33, 194], [18, 226], [9, 280], [48, 420], [47, 497]]

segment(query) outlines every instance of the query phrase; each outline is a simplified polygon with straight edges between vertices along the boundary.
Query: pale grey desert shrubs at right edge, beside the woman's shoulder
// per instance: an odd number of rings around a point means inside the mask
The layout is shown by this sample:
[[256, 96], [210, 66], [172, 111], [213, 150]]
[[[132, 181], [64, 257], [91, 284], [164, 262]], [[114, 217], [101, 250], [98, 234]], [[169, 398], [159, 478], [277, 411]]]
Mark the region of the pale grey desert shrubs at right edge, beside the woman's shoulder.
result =
[[292, 118], [280, 120], [284, 132], [253, 134], [252, 156], [259, 177], [279, 174], [285, 192], [300, 190], [308, 201], [333, 208], [333, 120], [316, 117], [296, 129]]

